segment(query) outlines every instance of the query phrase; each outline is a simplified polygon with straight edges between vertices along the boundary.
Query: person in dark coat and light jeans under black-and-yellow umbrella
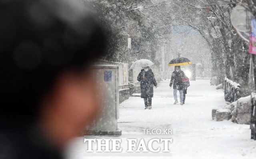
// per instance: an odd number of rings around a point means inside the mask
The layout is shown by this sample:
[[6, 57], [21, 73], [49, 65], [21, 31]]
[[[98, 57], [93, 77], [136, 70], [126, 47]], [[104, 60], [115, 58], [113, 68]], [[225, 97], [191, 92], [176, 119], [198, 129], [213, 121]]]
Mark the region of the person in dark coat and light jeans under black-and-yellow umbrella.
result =
[[185, 73], [180, 69], [180, 66], [175, 66], [174, 72], [172, 72], [172, 78], [170, 81], [170, 87], [173, 84], [173, 95], [174, 95], [174, 104], [178, 103], [177, 90], [180, 92], [180, 105], [183, 105], [184, 97], [184, 87], [182, 83], [182, 78], [185, 78]]

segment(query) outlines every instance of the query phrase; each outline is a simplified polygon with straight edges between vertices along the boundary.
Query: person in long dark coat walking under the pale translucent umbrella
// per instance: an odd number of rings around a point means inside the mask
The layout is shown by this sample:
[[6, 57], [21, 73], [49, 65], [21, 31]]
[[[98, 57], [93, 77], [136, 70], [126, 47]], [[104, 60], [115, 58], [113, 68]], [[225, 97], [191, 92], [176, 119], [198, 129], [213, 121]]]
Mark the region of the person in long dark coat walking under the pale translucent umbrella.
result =
[[140, 97], [144, 98], [145, 109], [152, 109], [153, 87], [157, 88], [154, 73], [149, 67], [146, 67], [141, 70], [137, 80], [140, 81]]

